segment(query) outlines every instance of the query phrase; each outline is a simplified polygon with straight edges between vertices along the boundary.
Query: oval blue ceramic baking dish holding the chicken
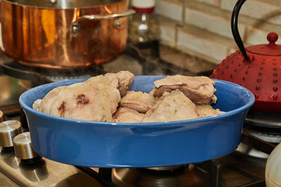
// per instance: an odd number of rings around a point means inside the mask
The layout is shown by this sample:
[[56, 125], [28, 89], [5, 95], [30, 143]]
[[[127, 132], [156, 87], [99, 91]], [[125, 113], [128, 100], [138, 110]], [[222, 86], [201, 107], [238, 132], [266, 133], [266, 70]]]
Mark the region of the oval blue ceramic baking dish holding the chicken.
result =
[[[150, 92], [164, 76], [135, 76], [129, 90]], [[169, 123], [104, 123], [60, 118], [32, 109], [36, 99], [61, 85], [40, 85], [20, 96], [32, 147], [45, 158], [86, 167], [159, 167], [202, 162], [234, 151], [254, 95], [240, 85], [216, 81], [218, 116]]]

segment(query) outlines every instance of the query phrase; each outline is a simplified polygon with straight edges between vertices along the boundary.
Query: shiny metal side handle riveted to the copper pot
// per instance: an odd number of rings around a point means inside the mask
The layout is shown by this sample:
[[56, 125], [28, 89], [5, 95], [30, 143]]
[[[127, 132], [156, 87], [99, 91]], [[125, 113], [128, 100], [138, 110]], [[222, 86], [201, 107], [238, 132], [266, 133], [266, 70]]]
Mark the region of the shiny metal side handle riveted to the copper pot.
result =
[[136, 13], [136, 11], [128, 10], [122, 13], [112, 13], [112, 14], [105, 14], [105, 15], [83, 15], [79, 17], [75, 22], [72, 22], [71, 33], [77, 34], [79, 32], [79, 22], [84, 20], [107, 20], [107, 19], [115, 19], [115, 18], [122, 18], [129, 15]]

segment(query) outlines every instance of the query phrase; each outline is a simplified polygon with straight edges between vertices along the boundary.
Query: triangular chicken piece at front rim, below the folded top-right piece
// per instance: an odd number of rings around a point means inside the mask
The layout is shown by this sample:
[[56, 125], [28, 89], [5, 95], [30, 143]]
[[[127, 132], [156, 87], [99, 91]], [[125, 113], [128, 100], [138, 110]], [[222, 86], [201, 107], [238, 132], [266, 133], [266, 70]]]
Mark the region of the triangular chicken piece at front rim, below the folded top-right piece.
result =
[[198, 118], [195, 104], [180, 90], [164, 92], [155, 106], [143, 117], [143, 123]]

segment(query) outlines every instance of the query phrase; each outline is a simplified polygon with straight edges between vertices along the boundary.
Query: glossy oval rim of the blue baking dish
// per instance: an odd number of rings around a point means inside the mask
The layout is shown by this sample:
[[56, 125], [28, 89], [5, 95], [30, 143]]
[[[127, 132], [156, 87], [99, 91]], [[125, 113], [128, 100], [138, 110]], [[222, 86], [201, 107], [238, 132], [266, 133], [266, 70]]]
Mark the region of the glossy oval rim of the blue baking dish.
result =
[[197, 124], [197, 123], [203, 123], [203, 122], [209, 121], [209, 120], [227, 118], [229, 116], [235, 115], [236, 113], [240, 113], [240, 111], [244, 111], [244, 110], [250, 108], [255, 102], [254, 95], [247, 88], [244, 88], [241, 85], [237, 85], [235, 83], [231, 83], [231, 82], [228, 82], [228, 81], [221, 81], [221, 80], [218, 80], [218, 79], [212, 79], [212, 80], [214, 80], [215, 82], [219, 82], [219, 83], [235, 85], [237, 87], [240, 87], [240, 88], [244, 89], [250, 97], [249, 102], [247, 104], [245, 104], [244, 106], [241, 106], [238, 109], [235, 109], [235, 110], [232, 110], [232, 111], [227, 111], [226, 113], [221, 113], [221, 114], [216, 115], [216, 116], [208, 116], [208, 117], [204, 117], [204, 118], [195, 118], [195, 119], [191, 119], [191, 120], [178, 120], [178, 121], [153, 122], [153, 123], [110, 123], [110, 122], [77, 120], [77, 119], [72, 119], [72, 118], [62, 118], [62, 117], [58, 117], [58, 116], [51, 116], [49, 114], [41, 113], [39, 111], [36, 111], [36, 110], [32, 109], [30, 106], [27, 106], [25, 104], [25, 102], [22, 100], [22, 97], [29, 94], [30, 92], [32, 92], [35, 89], [50, 86], [50, 85], [53, 85], [53, 84], [67, 83], [67, 82], [71, 82], [71, 81], [73, 81], [74, 83], [77, 83], [77, 82], [83, 81], [83, 80], [87, 80], [87, 78], [73, 79], [73, 80], [67, 80], [67, 81], [59, 81], [59, 82], [55, 82], [55, 83], [47, 83], [47, 84], [44, 84], [44, 85], [39, 85], [37, 87], [31, 88], [30, 90], [27, 90], [26, 92], [22, 93], [22, 95], [20, 95], [20, 98], [19, 98], [20, 106], [24, 110], [27, 110], [30, 113], [34, 113], [34, 115], [37, 115], [40, 118], [48, 118], [48, 119], [53, 118], [54, 120], [67, 122], [68, 124], [70, 124], [70, 123], [83, 123], [84, 125], [98, 125], [98, 126], [106, 126], [106, 127], [109, 127], [109, 126], [112, 126], [112, 127], [132, 127], [132, 126], [133, 127], [170, 127], [171, 125], [172, 126], [192, 125], [192, 124]]

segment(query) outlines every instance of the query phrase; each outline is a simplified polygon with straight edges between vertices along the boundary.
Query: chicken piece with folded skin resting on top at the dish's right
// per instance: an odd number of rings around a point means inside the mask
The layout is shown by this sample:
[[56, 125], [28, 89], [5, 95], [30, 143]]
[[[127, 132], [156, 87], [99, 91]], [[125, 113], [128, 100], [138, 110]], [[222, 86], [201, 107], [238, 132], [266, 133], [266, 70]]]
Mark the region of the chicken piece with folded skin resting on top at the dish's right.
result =
[[216, 103], [215, 82], [207, 76], [167, 76], [154, 83], [155, 88], [152, 93], [155, 97], [161, 97], [164, 92], [178, 89], [196, 104]]

